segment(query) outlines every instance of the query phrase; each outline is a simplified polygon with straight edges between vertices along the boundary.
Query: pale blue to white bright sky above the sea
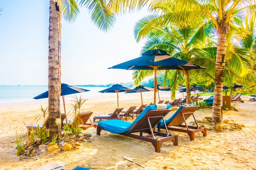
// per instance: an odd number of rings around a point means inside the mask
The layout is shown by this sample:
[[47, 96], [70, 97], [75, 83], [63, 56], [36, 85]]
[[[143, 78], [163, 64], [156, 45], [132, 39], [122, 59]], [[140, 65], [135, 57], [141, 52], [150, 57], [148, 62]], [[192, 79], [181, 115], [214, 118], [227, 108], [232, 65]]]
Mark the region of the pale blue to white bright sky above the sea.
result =
[[[0, 85], [48, 85], [49, 0], [0, 0]], [[117, 17], [100, 31], [80, 8], [75, 23], [62, 20], [61, 82], [70, 85], [131, 82], [132, 71], [109, 67], [140, 57], [134, 25], [147, 10]]]

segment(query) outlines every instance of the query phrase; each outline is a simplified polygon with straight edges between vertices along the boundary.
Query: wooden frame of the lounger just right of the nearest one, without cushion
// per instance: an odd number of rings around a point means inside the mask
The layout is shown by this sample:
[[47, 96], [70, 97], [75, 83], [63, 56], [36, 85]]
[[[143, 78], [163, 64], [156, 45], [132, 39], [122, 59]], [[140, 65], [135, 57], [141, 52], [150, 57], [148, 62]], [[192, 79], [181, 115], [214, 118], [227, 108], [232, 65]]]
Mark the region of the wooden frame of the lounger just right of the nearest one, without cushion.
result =
[[[177, 131], [177, 132], [187, 133], [189, 135], [191, 141], [195, 140], [195, 133], [198, 133], [198, 132], [202, 132], [203, 136], [207, 136], [207, 128], [199, 127], [198, 123], [195, 119], [194, 111], [196, 111], [198, 108], [199, 108], [199, 106], [184, 107], [180, 111], [181, 113], [177, 114], [177, 116], [179, 116], [179, 114], [182, 115], [182, 120], [180, 120], [180, 118], [175, 116], [175, 118], [167, 125], [167, 129]], [[188, 126], [186, 123], [186, 119], [188, 119], [191, 115], [193, 116], [193, 118], [195, 120], [196, 126]], [[184, 122], [185, 125], [182, 125], [183, 123], [180, 123], [180, 122]], [[174, 127], [172, 127], [172, 126], [174, 126]], [[160, 124], [158, 125], [158, 127], [160, 127]], [[175, 127], [181, 127], [181, 128], [175, 128]], [[163, 129], [163, 127], [161, 127], [161, 129]], [[160, 131], [159, 128], [158, 128], [158, 131]]]

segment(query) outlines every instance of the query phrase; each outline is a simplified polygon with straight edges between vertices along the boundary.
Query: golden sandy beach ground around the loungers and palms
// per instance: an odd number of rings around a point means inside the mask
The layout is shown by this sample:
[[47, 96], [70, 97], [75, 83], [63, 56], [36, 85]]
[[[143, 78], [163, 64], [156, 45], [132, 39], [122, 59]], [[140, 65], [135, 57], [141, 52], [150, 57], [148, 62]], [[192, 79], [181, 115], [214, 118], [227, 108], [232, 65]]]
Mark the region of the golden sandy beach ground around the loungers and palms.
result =
[[[144, 95], [144, 94], [143, 94]], [[177, 94], [179, 97], [182, 94]], [[151, 94], [145, 94], [144, 102], [152, 102]], [[168, 99], [169, 94], [161, 94], [161, 99]], [[204, 96], [204, 98], [208, 98]], [[120, 94], [120, 107], [127, 109], [131, 105], [139, 106], [140, 94]], [[188, 135], [170, 131], [179, 136], [179, 146], [172, 142], [162, 145], [161, 153], [154, 152], [154, 147], [137, 139], [102, 131], [96, 135], [96, 128], [89, 128], [84, 132], [92, 134], [94, 142], [85, 142], [79, 149], [70, 151], [45, 151], [39, 156], [20, 161], [16, 156], [16, 131], [26, 130], [26, 125], [35, 123], [34, 116], [39, 113], [41, 103], [29, 105], [0, 106], [0, 169], [35, 169], [50, 162], [73, 169], [77, 166], [90, 167], [93, 170], [256, 170], [256, 102], [249, 102], [248, 96], [242, 96], [244, 103], [237, 103], [236, 111], [224, 111], [223, 119], [232, 119], [244, 124], [242, 130], [224, 130], [216, 133], [207, 131], [207, 137], [201, 133], [190, 141]], [[66, 101], [67, 110], [70, 101]], [[47, 107], [47, 103], [42, 103]], [[106, 115], [116, 108], [116, 95], [89, 99], [85, 102], [82, 111], [93, 111], [95, 115]], [[177, 107], [176, 107], [177, 108]], [[64, 112], [63, 107], [61, 111]], [[172, 116], [170, 112], [166, 118]], [[73, 119], [71, 112], [67, 113]], [[211, 109], [201, 109], [195, 112], [196, 119], [211, 117]], [[132, 119], [128, 119], [132, 122]], [[190, 118], [188, 122], [191, 122]], [[43, 120], [41, 120], [41, 123]], [[122, 157], [140, 164], [129, 162]]]

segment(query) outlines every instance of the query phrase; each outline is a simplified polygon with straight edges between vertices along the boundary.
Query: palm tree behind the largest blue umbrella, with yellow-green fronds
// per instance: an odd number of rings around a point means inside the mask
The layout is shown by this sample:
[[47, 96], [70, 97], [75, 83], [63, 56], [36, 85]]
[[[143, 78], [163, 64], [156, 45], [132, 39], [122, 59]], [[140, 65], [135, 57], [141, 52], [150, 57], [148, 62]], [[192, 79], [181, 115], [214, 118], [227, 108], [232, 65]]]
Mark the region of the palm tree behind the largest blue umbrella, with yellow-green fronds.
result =
[[[157, 8], [157, 7], [155, 7]], [[160, 7], [159, 7], [160, 8]], [[172, 11], [167, 9], [163, 11], [164, 14], [172, 15]], [[167, 51], [171, 56], [177, 57], [186, 61], [191, 62], [193, 57], [207, 57], [209, 53], [204, 51], [203, 47], [207, 45], [212, 46], [214, 42], [210, 39], [213, 32], [213, 27], [211, 22], [204, 22], [201, 20], [201, 25], [197, 27], [191, 26], [181, 26], [179, 22], [174, 22], [168, 26], [162, 26], [159, 23], [162, 15], [149, 15], [142, 18], [137, 22], [134, 34], [135, 38], [140, 41], [144, 37], [149, 37], [148, 41], [145, 43], [142, 52], [158, 48]], [[199, 35], [200, 34], [200, 35]], [[211, 50], [212, 48], [209, 48]], [[146, 76], [151, 76], [152, 71], [134, 71], [134, 83], [139, 85]], [[175, 98], [175, 92], [177, 85], [182, 82], [183, 71], [165, 71], [164, 85], [167, 78], [170, 78], [169, 85], [171, 87], [172, 99]], [[190, 71], [184, 71], [186, 79], [186, 94], [187, 94], [187, 104], [191, 104], [191, 92], [190, 92]]]

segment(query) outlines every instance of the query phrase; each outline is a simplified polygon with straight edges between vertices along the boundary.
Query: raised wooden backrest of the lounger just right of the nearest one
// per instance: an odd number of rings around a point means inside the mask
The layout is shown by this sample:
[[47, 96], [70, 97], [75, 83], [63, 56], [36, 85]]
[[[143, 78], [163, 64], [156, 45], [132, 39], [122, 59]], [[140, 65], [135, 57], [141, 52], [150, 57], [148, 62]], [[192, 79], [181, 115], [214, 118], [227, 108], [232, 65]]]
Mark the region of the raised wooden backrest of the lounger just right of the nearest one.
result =
[[[167, 126], [178, 126], [182, 125], [185, 121], [184, 119], [188, 119], [192, 113], [198, 110], [199, 106], [185, 106], [177, 115], [172, 119], [172, 121], [167, 124]], [[183, 118], [184, 116], [184, 118]]]

